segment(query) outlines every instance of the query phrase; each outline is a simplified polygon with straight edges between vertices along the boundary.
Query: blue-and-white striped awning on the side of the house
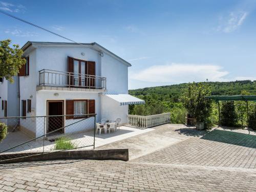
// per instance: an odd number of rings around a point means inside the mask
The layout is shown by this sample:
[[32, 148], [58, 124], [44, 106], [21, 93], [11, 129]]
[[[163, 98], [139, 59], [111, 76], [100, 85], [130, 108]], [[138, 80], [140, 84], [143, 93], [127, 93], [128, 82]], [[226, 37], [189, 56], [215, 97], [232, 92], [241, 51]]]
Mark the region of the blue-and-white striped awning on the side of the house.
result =
[[145, 101], [129, 94], [104, 94], [105, 96], [119, 102], [120, 105], [145, 104]]

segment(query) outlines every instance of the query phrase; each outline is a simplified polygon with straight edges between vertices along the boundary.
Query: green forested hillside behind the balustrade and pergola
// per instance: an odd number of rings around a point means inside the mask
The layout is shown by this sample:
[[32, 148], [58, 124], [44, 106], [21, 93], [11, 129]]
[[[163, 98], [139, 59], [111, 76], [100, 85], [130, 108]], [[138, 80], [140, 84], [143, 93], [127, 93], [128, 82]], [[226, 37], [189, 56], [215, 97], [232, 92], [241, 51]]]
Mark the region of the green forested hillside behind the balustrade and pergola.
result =
[[[256, 95], [256, 81], [242, 80], [230, 82], [204, 82], [210, 86], [211, 95]], [[130, 105], [129, 114], [155, 115], [171, 113], [173, 123], [184, 123], [186, 110], [181, 102], [182, 94], [187, 90], [188, 83], [173, 84], [129, 90], [129, 94], [145, 100], [144, 105]], [[213, 111], [217, 118], [217, 110]], [[215, 119], [217, 120], [217, 119]]]

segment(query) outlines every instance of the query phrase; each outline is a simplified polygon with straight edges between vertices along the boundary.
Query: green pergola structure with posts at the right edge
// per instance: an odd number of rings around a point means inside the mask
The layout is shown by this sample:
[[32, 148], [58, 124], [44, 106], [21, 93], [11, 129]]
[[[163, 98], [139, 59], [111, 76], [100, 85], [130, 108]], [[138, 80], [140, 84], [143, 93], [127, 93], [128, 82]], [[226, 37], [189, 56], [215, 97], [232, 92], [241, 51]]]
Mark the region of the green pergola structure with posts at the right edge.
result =
[[[206, 98], [215, 100], [216, 103], [218, 103], [218, 110], [219, 110], [219, 124], [221, 120], [220, 116], [220, 101], [245, 101], [246, 102], [246, 109], [247, 109], [247, 118], [248, 118], [248, 101], [253, 101], [256, 104], [256, 95], [223, 95], [223, 96], [218, 96], [218, 95], [212, 95], [212, 96], [207, 96]], [[240, 112], [242, 113], [242, 112]], [[248, 119], [247, 119], [248, 120]]]

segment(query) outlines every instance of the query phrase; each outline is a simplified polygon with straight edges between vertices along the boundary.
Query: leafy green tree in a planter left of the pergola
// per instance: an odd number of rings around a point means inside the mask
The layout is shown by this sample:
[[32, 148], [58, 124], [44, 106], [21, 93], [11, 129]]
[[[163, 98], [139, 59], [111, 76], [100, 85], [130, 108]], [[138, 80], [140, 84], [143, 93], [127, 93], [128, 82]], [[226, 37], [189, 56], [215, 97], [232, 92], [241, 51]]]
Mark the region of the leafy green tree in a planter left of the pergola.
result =
[[197, 122], [207, 122], [211, 113], [211, 101], [206, 98], [210, 96], [211, 90], [206, 83], [189, 83], [188, 88], [182, 96], [183, 105], [187, 112], [197, 119]]

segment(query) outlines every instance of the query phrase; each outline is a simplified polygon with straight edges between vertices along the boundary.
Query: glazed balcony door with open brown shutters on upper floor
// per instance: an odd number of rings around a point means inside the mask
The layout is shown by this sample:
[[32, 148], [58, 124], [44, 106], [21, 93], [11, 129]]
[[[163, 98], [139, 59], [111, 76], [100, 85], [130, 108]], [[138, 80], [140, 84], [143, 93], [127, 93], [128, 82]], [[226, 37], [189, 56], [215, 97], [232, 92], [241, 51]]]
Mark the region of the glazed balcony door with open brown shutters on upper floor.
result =
[[68, 57], [68, 84], [72, 87], [95, 88], [95, 61]]

